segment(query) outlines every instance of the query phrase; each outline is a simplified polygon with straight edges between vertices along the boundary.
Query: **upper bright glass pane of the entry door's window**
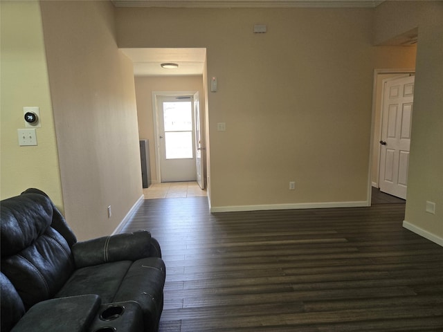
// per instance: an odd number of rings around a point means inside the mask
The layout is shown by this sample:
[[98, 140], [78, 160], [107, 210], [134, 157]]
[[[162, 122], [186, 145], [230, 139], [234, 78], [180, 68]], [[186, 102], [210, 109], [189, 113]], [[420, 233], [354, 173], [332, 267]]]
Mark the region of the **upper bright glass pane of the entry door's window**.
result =
[[165, 131], [191, 131], [191, 102], [163, 102]]

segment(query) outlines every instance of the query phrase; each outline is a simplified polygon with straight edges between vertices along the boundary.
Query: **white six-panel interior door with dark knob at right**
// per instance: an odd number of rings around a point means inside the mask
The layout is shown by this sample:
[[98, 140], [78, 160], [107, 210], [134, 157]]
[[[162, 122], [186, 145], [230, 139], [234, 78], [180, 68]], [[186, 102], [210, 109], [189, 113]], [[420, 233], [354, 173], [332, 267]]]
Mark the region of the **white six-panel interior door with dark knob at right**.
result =
[[414, 76], [386, 80], [381, 122], [380, 190], [406, 199]]

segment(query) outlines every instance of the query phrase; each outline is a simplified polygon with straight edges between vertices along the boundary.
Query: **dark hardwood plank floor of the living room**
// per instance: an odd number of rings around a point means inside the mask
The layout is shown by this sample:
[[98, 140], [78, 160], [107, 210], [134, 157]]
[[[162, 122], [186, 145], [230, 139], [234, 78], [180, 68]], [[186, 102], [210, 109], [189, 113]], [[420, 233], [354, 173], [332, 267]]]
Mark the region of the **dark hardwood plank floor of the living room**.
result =
[[401, 227], [404, 203], [210, 214], [145, 200], [167, 268], [161, 332], [443, 331], [443, 248]]

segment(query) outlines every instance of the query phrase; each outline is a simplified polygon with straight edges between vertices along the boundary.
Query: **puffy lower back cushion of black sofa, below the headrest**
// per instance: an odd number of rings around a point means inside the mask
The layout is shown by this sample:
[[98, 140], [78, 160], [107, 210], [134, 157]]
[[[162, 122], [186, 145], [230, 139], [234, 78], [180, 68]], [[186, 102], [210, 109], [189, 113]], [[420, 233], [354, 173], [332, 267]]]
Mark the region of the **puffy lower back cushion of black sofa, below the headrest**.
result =
[[1, 259], [1, 271], [17, 289], [26, 310], [53, 297], [73, 270], [71, 249], [53, 228], [17, 255]]

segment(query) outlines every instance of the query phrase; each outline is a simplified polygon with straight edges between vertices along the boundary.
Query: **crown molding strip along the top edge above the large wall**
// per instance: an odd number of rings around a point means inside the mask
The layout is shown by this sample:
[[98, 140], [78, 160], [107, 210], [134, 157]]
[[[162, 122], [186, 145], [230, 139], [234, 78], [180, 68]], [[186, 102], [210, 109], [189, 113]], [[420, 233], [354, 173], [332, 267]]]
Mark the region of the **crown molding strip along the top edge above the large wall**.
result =
[[374, 8], [374, 0], [111, 0], [116, 7], [163, 8]]

